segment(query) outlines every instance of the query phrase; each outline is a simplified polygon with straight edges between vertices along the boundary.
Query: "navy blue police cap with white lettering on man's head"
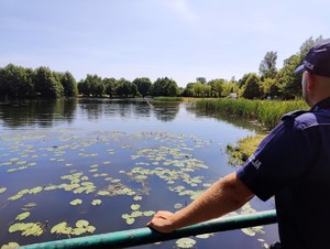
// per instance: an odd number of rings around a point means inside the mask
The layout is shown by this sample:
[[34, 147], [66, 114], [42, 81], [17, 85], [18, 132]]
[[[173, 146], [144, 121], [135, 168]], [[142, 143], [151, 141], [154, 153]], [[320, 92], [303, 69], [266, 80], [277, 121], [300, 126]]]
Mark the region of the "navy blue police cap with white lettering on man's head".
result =
[[302, 71], [330, 77], [330, 39], [315, 44], [306, 54], [304, 63], [294, 73], [298, 74]]

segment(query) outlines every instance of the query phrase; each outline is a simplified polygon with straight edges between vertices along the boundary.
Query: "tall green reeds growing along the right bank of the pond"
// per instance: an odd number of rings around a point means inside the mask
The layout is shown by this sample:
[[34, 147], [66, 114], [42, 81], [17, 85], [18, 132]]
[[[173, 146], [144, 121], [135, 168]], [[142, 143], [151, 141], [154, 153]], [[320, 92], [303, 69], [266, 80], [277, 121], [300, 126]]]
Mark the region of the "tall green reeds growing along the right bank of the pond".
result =
[[196, 107], [207, 111], [219, 111], [256, 119], [267, 129], [273, 129], [286, 112], [308, 109], [304, 100], [250, 100], [250, 99], [202, 99]]

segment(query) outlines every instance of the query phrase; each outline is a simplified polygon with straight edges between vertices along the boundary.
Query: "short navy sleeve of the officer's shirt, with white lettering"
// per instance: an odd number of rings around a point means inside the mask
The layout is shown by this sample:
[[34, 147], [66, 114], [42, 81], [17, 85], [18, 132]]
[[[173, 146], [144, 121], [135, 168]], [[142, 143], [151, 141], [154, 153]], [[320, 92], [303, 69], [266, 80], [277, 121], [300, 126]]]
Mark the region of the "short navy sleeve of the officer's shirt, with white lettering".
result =
[[237, 172], [240, 180], [262, 201], [307, 174], [318, 142], [314, 129], [295, 119], [282, 121]]

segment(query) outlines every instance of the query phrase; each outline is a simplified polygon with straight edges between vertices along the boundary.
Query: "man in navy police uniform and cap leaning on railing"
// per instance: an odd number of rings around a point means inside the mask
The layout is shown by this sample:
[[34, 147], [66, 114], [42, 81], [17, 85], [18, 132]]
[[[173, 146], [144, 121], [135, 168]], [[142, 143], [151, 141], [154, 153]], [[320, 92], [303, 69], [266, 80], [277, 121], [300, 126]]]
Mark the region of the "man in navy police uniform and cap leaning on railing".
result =
[[285, 115], [238, 172], [175, 214], [158, 212], [148, 227], [170, 232], [235, 210], [254, 195], [275, 195], [280, 243], [273, 248], [330, 248], [330, 39], [307, 53], [295, 71], [301, 72], [311, 109]]

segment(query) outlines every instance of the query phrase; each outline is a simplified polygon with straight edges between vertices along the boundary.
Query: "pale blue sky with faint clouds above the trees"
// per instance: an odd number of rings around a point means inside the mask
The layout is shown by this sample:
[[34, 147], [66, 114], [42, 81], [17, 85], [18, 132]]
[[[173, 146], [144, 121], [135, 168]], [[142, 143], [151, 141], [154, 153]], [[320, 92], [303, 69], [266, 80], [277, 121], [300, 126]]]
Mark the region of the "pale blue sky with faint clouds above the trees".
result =
[[0, 67], [77, 80], [240, 79], [266, 52], [277, 68], [310, 36], [330, 37], [329, 0], [0, 0]]

